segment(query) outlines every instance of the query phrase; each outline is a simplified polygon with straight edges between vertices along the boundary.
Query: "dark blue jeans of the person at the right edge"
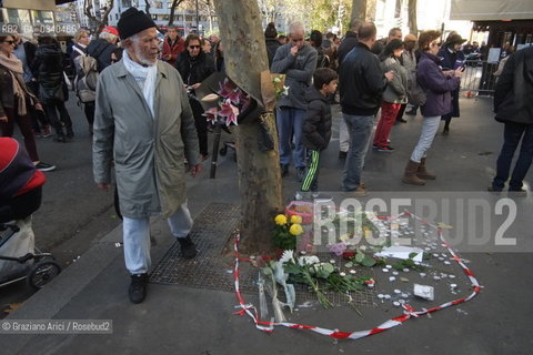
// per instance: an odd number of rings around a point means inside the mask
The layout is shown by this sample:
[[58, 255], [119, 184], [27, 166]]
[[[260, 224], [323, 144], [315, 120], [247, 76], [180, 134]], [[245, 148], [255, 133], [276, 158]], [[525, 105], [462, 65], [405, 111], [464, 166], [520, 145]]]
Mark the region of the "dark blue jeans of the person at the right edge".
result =
[[509, 191], [522, 190], [522, 181], [531, 166], [533, 158], [533, 125], [515, 123], [505, 123], [503, 146], [496, 162], [496, 176], [492, 182], [494, 190], [502, 190], [505, 186], [511, 171], [511, 162], [520, 140], [522, 140], [522, 146], [511, 175]]

